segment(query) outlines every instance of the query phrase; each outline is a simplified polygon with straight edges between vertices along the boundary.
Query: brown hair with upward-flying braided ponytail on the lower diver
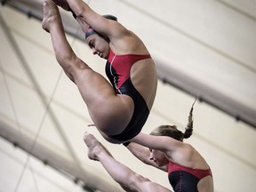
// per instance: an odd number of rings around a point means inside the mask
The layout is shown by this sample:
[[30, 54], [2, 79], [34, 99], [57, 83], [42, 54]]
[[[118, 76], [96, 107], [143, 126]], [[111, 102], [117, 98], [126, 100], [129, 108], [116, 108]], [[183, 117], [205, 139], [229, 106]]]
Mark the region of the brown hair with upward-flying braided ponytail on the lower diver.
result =
[[196, 100], [194, 101], [190, 112], [188, 116], [188, 124], [185, 128], [185, 132], [180, 132], [180, 130], [177, 129], [176, 125], [160, 125], [156, 127], [155, 130], [150, 132], [150, 135], [156, 135], [156, 136], [168, 136], [172, 137], [174, 140], [180, 140], [183, 141], [183, 139], [188, 139], [193, 132], [193, 107], [196, 103]]

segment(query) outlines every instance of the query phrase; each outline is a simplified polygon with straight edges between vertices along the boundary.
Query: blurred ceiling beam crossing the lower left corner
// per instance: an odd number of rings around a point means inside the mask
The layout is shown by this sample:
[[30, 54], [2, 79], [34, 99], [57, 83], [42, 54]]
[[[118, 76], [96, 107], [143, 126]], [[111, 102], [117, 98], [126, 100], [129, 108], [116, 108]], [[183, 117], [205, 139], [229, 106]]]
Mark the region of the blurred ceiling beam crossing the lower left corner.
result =
[[41, 160], [45, 165], [49, 165], [61, 174], [67, 176], [70, 180], [74, 180], [77, 184], [81, 185], [82, 188], [86, 188], [86, 191], [120, 191], [117, 185], [102, 180], [99, 175], [89, 170], [89, 166], [86, 168], [77, 169], [76, 162], [68, 156], [63, 156], [60, 151], [52, 150], [52, 148], [46, 147], [40, 141], [36, 142], [34, 148], [34, 135], [28, 135], [22, 132], [22, 137], [20, 137], [20, 132], [9, 124], [5, 124], [0, 121], [0, 136], [4, 140], [8, 140], [15, 147], [21, 148], [28, 152], [28, 157], [35, 156], [37, 159]]

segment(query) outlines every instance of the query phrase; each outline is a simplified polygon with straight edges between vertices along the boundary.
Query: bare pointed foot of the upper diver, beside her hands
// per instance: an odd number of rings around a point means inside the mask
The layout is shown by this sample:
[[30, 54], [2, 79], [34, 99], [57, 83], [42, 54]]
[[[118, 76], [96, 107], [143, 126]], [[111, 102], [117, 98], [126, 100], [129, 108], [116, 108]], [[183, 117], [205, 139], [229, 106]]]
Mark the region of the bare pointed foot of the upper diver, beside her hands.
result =
[[52, 0], [44, 0], [44, 20], [42, 22], [42, 28], [49, 32], [51, 22], [54, 20], [60, 21], [60, 12], [56, 4]]

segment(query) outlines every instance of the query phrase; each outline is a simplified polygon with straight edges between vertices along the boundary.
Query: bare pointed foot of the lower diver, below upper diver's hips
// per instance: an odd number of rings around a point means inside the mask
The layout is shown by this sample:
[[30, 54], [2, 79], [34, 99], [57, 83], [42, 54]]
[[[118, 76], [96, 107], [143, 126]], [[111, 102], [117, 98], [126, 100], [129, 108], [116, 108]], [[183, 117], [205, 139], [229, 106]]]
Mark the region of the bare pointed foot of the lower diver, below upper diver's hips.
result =
[[100, 143], [92, 134], [85, 132], [84, 133], [84, 142], [88, 147], [88, 157], [92, 160], [99, 161], [100, 153], [107, 153], [109, 156], [111, 154], [108, 152], [107, 148]]

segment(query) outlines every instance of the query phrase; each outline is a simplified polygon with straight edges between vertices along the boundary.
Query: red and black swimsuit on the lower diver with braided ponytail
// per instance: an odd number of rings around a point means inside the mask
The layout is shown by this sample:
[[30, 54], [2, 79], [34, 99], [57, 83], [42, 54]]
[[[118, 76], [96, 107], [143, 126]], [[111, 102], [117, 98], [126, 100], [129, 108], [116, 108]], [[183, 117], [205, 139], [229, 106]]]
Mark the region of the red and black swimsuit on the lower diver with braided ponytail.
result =
[[197, 192], [197, 184], [206, 176], [212, 176], [211, 169], [192, 169], [169, 161], [168, 178], [175, 192]]

